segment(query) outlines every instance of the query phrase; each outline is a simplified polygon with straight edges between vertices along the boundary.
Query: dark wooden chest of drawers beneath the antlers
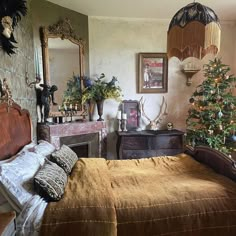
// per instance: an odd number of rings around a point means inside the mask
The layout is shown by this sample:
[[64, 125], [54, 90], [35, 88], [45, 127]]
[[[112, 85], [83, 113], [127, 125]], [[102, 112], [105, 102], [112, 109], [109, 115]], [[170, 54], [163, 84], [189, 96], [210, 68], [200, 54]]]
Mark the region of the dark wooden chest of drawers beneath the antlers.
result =
[[183, 152], [184, 132], [179, 130], [129, 131], [117, 132], [117, 135], [118, 159], [139, 159]]

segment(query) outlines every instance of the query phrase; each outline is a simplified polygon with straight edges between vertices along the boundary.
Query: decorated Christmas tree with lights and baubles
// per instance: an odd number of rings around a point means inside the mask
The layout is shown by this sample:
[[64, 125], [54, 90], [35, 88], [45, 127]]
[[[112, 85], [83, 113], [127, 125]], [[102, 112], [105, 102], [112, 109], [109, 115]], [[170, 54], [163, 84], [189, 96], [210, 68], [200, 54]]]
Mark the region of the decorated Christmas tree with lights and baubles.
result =
[[203, 66], [205, 80], [193, 93], [187, 118], [187, 142], [230, 154], [235, 151], [236, 78], [229, 66], [215, 58]]

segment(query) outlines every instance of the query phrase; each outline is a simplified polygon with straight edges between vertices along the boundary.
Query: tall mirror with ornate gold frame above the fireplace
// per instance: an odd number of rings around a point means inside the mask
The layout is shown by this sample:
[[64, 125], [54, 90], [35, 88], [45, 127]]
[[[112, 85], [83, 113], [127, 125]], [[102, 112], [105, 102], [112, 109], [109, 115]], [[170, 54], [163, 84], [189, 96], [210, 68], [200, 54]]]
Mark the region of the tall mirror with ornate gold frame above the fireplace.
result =
[[[63, 94], [67, 90], [68, 81], [76, 77], [78, 87], [82, 89], [83, 86], [84, 42], [75, 35], [69, 19], [59, 20], [48, 27], [41, 27], [40, 38], [44, 84], [58, 87], [54, 100], [63, 107]], [[58, 113], [59, 106], [51, 107], [50, 115]], [[83, 112], [79, 100], [78, 104], [67, 104], [67, 107], [72, 106], [76, 107], [78, 115]]]

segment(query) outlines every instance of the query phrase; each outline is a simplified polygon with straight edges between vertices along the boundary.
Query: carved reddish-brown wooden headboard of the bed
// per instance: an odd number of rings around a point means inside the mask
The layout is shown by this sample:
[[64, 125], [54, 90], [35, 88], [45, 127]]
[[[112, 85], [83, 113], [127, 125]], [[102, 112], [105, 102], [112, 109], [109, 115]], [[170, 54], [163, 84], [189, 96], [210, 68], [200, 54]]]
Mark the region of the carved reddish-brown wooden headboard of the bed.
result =
[[13, 103], [0, 104], [0, 160], [15, 155], [24, 145], [31, 142], [32, 126], [30, 114]]

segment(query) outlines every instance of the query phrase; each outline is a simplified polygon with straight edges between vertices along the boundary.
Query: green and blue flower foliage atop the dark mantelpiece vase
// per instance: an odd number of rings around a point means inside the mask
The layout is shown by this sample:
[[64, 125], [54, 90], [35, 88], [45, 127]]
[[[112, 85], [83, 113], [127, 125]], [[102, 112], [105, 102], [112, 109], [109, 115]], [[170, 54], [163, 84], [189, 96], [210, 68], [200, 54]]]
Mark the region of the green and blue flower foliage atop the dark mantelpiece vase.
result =
[[104, 100], [114, 98], [119, 100], [121, 98], [121, 88], [116, 85], [117, 78], [112, 77], [111, 81], [105, 82], [105, 74], [101, 74], [92, 84], [88, 85], [82, 92], [82, 103], [88, 100]]

